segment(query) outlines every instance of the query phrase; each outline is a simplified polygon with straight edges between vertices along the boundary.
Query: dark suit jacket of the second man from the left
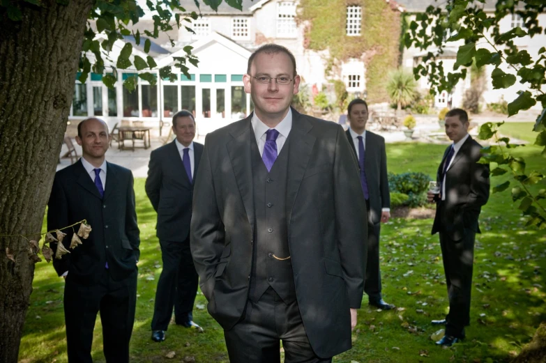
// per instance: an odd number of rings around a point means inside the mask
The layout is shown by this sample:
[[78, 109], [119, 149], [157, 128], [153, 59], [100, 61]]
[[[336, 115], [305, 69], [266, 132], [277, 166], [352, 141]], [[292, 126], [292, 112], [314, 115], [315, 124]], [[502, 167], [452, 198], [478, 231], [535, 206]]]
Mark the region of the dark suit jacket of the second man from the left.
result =
[[194, 142], [194, 177], [190, 183], [175, 141], [151, 152], [146, 194], [158, 213], [156, 229], [160, 240], [183, 241], [190, 234], [193, 185], [201, 155], [203, 145]]

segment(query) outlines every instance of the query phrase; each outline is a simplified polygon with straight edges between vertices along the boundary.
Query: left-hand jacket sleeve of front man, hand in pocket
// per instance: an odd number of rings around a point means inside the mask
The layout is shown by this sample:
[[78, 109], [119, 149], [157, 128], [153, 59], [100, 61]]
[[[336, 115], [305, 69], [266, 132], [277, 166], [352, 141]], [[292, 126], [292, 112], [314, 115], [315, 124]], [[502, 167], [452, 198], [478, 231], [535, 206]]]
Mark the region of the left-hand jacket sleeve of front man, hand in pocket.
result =
[[199, 161], [197, 182], [193, 191], [190, 247], [199, 274], [199, 285], [207, 300], [214, 288], [214, 274], [224, 249], [225, 228], [218, 210], [211, 160], [208, 149], [211, 142], [206, 137], [203, 155]]

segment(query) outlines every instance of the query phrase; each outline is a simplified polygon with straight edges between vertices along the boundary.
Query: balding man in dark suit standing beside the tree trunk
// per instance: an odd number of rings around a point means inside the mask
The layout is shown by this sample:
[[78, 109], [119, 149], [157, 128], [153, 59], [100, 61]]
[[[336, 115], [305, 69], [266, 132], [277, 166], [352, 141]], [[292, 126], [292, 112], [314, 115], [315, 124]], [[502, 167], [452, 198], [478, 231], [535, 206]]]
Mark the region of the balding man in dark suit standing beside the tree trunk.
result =
[[[48, 230], [82, 219], [92, 229], [74, 249], [69, 249], [74, 229], [66, 229], [62, 243], [70, 254], [53, 260], [56, 272], [66, 278], [68, 362], [93, 362], [91, 342], [98, 311], [106, 362], [129, 362], [140, 254], [132, 173], [105, 161], [109, 134], [104, 121], [88, 118], [77, 130], [82, 158], [55, 174], [47, 210]], [[56, 252], [57, 243], [51, 247]]]

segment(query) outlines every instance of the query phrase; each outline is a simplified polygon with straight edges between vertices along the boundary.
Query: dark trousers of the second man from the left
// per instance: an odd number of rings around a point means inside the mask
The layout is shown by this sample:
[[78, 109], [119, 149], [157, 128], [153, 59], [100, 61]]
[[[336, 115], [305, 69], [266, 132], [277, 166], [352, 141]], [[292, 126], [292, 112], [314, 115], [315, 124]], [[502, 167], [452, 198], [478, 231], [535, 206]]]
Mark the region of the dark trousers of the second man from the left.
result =
[[176, 324], [186, 325], [192, 318], [199, 276], [193, 265], [190, 237], [183, 242], [160, 240], [163, 270], [156, 291], [152, 330], [167, 330], [174, 307]]

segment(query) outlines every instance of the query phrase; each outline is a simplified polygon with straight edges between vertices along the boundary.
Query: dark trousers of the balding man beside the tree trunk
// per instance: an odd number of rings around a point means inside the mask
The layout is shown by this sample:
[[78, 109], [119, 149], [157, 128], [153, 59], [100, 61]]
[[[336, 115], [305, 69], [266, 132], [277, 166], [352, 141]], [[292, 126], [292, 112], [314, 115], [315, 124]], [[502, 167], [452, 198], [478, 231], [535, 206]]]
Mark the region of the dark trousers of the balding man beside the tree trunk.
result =
[[103, 323], [103, 349], [108, 363], [129, 362], [129, 341], [137, 304], [137, 269], [114, 281], [108, 270], [97, 284], [85, 286], [66, 277], [64, 316], [68, 362], [92, 363], [91, 343], [97, 313]]

